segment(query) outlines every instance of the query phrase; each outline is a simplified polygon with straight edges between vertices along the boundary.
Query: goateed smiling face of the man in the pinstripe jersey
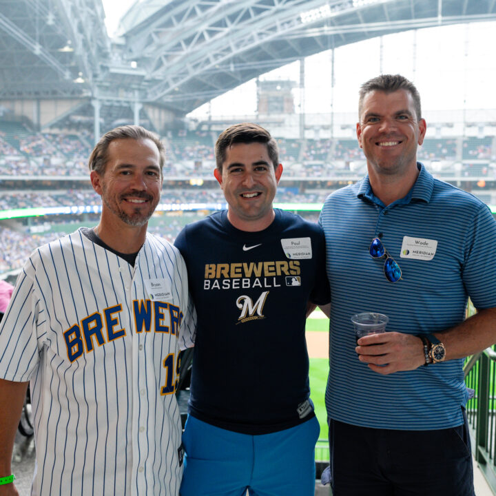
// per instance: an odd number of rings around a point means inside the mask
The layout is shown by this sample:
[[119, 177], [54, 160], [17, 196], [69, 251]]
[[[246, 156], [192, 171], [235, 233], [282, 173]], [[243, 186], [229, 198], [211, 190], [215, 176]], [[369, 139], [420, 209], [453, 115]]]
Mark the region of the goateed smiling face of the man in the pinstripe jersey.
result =
[[149, 139], [116, 139], [108, 146], [107, 157], [103, 173], [92, 171], [90, 176], [103, 200], [103, 224], [145, 226], [161, 196], [156, 145]]

